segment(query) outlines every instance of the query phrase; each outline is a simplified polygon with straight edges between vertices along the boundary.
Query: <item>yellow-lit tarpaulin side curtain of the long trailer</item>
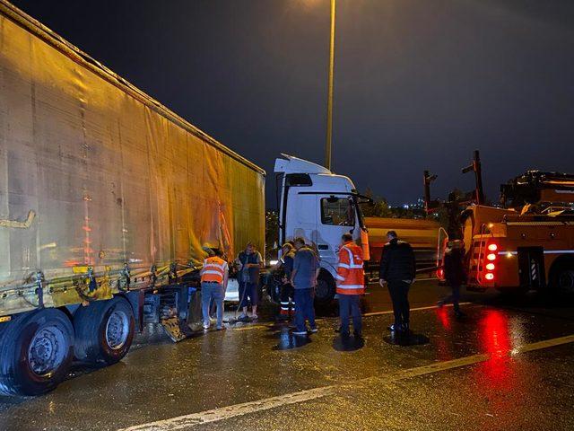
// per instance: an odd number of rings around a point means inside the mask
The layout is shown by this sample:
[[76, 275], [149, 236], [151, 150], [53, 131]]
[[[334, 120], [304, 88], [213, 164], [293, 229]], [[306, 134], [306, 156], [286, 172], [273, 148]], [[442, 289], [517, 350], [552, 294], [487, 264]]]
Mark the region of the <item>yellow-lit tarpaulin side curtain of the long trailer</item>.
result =
[[[0, 12], [0, 289], [93, 268], [98, 288], [51, 289], [59, 305], [111, 295], [100, 285], [125, 263], [263, 249], [265, 172], [4, 0]], [[13, 298], [0, 314], [38, 301]]]

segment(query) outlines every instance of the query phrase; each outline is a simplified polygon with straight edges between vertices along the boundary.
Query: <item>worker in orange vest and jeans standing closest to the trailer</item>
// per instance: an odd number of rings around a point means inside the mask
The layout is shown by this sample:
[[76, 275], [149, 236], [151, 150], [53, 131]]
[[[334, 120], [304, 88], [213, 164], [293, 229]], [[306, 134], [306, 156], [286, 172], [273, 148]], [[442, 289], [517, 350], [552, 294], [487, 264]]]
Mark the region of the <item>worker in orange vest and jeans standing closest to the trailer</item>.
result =
[[209, 257], [204, 259], [201, 274], [201, 305], [204, 317], [204, 329], [209, 329], [209, 304], [213, 299], [217, 307], [217, 330], [223, 328], [223, 298], [227, 289], [229, 265], [222, 259], [222, 251], [209, 251]]

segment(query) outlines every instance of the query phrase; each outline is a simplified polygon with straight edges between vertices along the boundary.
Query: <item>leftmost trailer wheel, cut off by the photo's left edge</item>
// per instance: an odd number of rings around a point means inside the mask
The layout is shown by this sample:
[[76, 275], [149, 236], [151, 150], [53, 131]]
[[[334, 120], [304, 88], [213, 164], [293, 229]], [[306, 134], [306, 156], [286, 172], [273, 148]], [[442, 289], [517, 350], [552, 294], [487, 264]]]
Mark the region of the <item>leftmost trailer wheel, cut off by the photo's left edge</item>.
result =
[[0, 324], [0, 393], [40, 395], [61, 383], [74, 358], [74, 328], [64, 312], [22, 313]]

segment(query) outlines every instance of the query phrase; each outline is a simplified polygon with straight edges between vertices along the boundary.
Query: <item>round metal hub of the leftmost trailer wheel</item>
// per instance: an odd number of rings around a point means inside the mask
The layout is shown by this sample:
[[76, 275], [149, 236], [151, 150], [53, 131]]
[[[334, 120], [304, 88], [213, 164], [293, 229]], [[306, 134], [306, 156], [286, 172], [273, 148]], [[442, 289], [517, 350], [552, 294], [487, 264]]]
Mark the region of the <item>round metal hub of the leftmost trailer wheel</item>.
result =
[[65, 334], [57, 326], [47, 326], [34, 335], [28, 348], [28, 363], [34, 374], [55, 372], [65, 359]]

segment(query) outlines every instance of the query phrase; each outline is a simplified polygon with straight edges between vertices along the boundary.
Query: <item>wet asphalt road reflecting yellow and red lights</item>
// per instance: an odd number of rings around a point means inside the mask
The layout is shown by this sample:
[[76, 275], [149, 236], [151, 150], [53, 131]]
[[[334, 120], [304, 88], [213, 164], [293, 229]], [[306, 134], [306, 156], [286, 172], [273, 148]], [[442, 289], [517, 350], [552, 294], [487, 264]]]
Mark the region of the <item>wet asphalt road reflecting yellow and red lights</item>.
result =
[[466, 293], [457, 321], [431, 308], [444, 292], [413, 286], [412, 327], [427, 341], [415, 346], [387, 342], [378, 286], [362, 341], [340, 339], [329, 317], [302, 340], [265, 319], [178, 344], [148, 328], [117, 365], [0, 398], [0, 430], [574, 429], [574, 337], [559, 339], [574, 334], [574, 302]]

